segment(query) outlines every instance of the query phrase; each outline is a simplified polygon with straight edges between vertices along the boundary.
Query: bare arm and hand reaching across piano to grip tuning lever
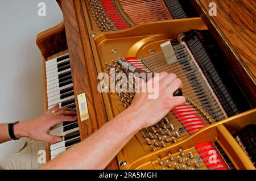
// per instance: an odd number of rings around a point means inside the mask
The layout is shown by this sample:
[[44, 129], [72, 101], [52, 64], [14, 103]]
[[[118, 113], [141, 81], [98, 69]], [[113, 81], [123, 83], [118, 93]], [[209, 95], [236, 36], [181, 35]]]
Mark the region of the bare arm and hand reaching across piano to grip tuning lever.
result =
[[[137, 93], [127, 110], [86, 140], [44, 165], [42, 169], [104, 169], [136, 132], [155, 124], [174, 106], [185, 102], [183, 96], [172, 96], [182, 86], [176, 75], [160, 73], [154, 77], [158, 78], [158, 98], [148, 99], [148, 92]], [[148, 83], [151, 82], [148, 81], [147, 85]]]

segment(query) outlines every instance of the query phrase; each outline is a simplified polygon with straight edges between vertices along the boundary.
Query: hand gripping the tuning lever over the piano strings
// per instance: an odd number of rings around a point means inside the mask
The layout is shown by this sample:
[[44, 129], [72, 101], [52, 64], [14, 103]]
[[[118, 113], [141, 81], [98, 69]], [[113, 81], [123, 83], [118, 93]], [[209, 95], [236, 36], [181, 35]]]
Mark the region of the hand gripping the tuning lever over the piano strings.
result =
[[[146, 92], [137, 92], [135, 94], [133, 103], [127, 109], [135, 112], [138, 117], [141, 118], [140, 123], [138, 123], [142, 128], [150, 127], [151, 125], [157, 123], [165, 115], [167, 115], [172, 108], [185, 103], [184, 96], [173, 96], [177, 89], [182, 88], [182, 82], [175, 74], [168, 74], [166, 72], [159, 73], [154, 78], [150, 79], [147, 83], [143, 82], [141, 79], [142, 87], [148, 87], [148, 85], [157, 90], [154, 81], [159, 81], [159, 95], [156, 99], [148, 99], [148, 89]], [[142, 88], [143, 90], [143, 88]]]

